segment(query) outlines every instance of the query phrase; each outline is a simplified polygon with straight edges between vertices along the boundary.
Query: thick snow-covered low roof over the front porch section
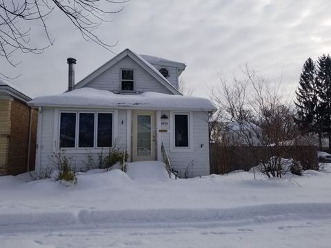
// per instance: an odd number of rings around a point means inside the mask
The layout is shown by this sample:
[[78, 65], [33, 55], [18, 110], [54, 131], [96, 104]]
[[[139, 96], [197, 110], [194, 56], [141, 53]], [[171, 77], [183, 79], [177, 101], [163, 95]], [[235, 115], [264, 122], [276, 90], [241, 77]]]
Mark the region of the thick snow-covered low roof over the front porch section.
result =
[[114, 94], [89, 87], [52, 96], [39, 96], [28, 103], [49, 107], [101, 107], [136, 110], [216, 110], [208, 99], [196, 96], [143, 92], [142, 94]]

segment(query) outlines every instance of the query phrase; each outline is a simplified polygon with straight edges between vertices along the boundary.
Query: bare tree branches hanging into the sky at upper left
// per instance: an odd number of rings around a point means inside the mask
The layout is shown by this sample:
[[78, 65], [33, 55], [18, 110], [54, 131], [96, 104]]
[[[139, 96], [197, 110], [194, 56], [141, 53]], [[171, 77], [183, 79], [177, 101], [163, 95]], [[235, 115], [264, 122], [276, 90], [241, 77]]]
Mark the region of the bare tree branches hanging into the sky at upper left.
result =
[[[48, 32], [46, 17], [55, 9], [60, 10], [70, 20], [74, 27], [81, 32], [83, 39], [92, 40], [112, 52], [111, 48], [117, 45], [117, 42], [108, 44], [99, 39], [94, 31], [101, 23], [113, 21], [113, 19], [108, 19], [109, 16], [121, 12], [123, 7], [117, 5], [127, 1], [0, 0], [0, 56], [15, 67], [18, 64], [12, 58], [15, 52], [40, 53], [53, 45], [54, 39]], [[101, 6], [101, 4], [103, 5]], [[110, 6], [114, 5], [116, 10], [108, 10]], [[43, 29], [48, 43], [46, 45], [31, 44], [31, 28], [22, 28], [23, 24], [24, 26], [35, 26], [36, 21]]]

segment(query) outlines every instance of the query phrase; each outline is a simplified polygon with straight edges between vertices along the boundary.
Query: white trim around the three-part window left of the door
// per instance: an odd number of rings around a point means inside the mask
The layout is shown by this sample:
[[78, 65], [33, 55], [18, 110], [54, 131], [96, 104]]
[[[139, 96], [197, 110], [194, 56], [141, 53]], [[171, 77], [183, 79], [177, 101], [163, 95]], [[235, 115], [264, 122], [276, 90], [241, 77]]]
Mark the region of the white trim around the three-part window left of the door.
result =
[[[74, 147], [60, 147], [60, 131], [61, 131], [61, 113], [74, 113], [76, 114], [76, 130], [75, 130], [75, 141]], [[80, 113], [90, 113], [94, 114], [94, 139], [93, 139], [93, 147], [79, 147], [79, 114]], [[98, 147], [97, 146], [97, 114], [112, 114], [112, 145], [114, 145], [114, 137], [117, 136], [117, 118], [118, 112], [117, 110], [56, 110], [54, 114], [54, 147], [53, 152], [57, 151], [57, 149], [65, 149], [67, 152], [71, 153], [85, 153], [87, 149], [92, 151], [100, 151], [104, 148], [109, 147]]]

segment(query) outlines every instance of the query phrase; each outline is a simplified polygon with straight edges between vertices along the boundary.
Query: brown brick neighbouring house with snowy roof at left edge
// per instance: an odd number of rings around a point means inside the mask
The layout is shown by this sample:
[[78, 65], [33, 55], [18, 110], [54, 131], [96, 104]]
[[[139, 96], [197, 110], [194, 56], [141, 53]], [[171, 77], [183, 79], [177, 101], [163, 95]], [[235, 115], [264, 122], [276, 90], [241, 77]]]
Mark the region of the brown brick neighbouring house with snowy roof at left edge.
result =
[[0, 176], [34, 169], [37, 111], [30, 97], [0, 79]]

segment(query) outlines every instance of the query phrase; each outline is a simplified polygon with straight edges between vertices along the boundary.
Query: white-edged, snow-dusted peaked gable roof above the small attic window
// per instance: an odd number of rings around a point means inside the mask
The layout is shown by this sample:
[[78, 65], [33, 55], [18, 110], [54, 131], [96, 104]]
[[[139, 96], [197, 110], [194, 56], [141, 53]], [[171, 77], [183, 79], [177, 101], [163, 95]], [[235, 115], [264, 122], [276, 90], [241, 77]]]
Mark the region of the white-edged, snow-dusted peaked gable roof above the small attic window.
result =
[[99, 76], [101, 73], [106, 72], [106, 70], [111, 68], [112, 65], [121, 61], [121, 59], [123, 59], [126, 56], [129, 56], [134, 62], [136, 62], [138, 65], [140, 65], [141, 68], [146, 70], [146, 72], [148, 72], [151, 76], [153, 76], [154, 79], [157, 79], [157, 81], [159, 81], [159, 83], [161, 83], [161, 85], [166, 87], [170, 92], [172, 92], [173, 94], [179, 94], [179, 95], [181, 94], [174, 86], [171, 85], [171, 83], [167, 79], [165, 79], [165, 77], [156, 68], [154, 68], [153, 65], [148, 63], [148, 61], [146, 61], [146, 59], [143, 59], [142, 56], [132, 52], [128, 48], [126, 50], [124, 50], [123, 52], [114, 56], [114, 58], [110, 59], [110, 61], [101, 65], [100, 68], [98, 68], [97, 70], [94, 70], [94, 72], [92, 72], [91, 74], [86, 76], [84, 79], [79, 81], [79, 83], [74, 85], [75, 89], [79, 89], [79, 88], [83, 87], [84, 85], [86, 85], [87, 83], [89, 83], [90, 81], [95, 79], [97, 76]]

